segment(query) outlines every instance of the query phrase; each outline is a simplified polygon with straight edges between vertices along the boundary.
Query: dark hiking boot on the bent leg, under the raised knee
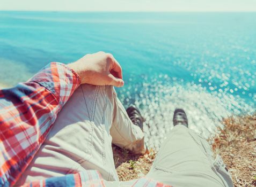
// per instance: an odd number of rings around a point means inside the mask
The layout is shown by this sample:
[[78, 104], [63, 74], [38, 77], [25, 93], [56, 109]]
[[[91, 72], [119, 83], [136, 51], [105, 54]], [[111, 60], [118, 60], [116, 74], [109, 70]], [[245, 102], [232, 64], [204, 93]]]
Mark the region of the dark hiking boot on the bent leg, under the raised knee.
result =
[[143, 122], [145, 122], [145, 119], [142, 117], [138, 108], [134, 105], [131, 105], [126, 109], [126, 112], [133, 124], [140, 127], [143, 131]]

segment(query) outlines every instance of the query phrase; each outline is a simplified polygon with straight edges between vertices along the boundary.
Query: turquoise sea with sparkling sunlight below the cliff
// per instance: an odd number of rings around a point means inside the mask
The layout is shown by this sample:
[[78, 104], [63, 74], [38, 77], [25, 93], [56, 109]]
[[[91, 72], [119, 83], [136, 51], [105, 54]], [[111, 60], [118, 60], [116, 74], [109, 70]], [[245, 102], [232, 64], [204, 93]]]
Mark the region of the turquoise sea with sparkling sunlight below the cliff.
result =
[[178, 106], [205, 137], [223, 117], [255, 112], [256, 13], [0, 11], [0, 83], [97, 51], [121, 64], [119, 98], [140, 106], [150, 146], [171, 130]]

